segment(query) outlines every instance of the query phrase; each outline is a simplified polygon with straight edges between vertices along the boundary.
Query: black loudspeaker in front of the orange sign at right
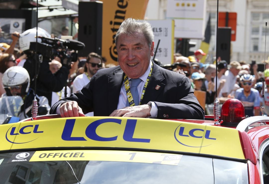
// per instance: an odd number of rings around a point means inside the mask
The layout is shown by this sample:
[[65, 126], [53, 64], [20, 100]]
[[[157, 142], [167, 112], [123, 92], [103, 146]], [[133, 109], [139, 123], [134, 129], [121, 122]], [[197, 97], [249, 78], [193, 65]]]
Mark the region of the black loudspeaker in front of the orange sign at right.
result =
[[231, 58], [231, 28], [219, 27], [218, 28], [218, 45], [217, 45], [217, 58], [230, 63]]

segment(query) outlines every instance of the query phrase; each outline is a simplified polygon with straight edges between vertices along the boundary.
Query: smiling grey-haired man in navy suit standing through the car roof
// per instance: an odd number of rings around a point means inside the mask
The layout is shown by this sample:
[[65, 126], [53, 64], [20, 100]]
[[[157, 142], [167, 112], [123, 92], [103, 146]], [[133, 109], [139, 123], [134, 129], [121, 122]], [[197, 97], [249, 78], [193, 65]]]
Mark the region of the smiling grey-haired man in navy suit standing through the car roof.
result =
[[62, 117], [124, 116], [204, 119], [191, 82], [151, 61], [154, 34], [148, 22], [128, 18], [115, 37], [119, 66], [98, 70], [78, 93], [58, 101]]

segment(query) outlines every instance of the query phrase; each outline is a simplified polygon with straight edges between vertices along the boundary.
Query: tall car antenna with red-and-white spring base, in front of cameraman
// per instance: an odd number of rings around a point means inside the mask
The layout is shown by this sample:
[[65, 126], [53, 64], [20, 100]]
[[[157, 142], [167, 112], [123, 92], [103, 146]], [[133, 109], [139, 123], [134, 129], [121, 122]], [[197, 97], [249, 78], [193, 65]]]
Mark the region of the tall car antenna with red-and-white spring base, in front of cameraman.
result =
[[[38, 0], [36, 1], [36, 62], [38, 61], [37, 58], [37, 28], [38, 28]], [[38, 105], [37, 105], [37, 99], [36, 99], [36, 81], [37, 81], [37, 63], [36, 63], [36, 75], [34, 79], [34, 100], [32, 105], [32, 120], [36, 120], [37, 111], [38, 111]]]

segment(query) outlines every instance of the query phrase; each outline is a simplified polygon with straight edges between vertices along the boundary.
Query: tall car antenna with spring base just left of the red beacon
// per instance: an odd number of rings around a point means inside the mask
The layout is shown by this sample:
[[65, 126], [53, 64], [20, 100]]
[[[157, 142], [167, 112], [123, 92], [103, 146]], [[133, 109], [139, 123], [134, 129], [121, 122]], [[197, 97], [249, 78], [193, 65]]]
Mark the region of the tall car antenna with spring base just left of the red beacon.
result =
[[217, 0], [217, 33], [216, 33], [216, 100], [214, 102], [213, 106], [213, 116], [214, 116], [214, 125], [220, 126], [220, 124], [223, 122], [219, 122], [219, 116], [220, 116], [220, 105], [218, 102], [218, 97], [217, 97], [217, 77], [218, 77], [218, 0]]

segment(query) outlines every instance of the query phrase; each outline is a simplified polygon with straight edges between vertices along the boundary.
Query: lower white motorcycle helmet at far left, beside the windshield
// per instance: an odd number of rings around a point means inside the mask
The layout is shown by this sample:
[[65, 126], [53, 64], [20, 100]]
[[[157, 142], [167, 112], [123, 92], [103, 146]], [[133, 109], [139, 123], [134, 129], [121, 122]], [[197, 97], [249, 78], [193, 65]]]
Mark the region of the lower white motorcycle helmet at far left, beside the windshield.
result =
[[8, 96], [11, 95], [9, 87], [22, 86], [21, 94], [29, 91], [30, 77], [27, 70], [21, 66], [12, 66], [3, 73], [2, 83]]

